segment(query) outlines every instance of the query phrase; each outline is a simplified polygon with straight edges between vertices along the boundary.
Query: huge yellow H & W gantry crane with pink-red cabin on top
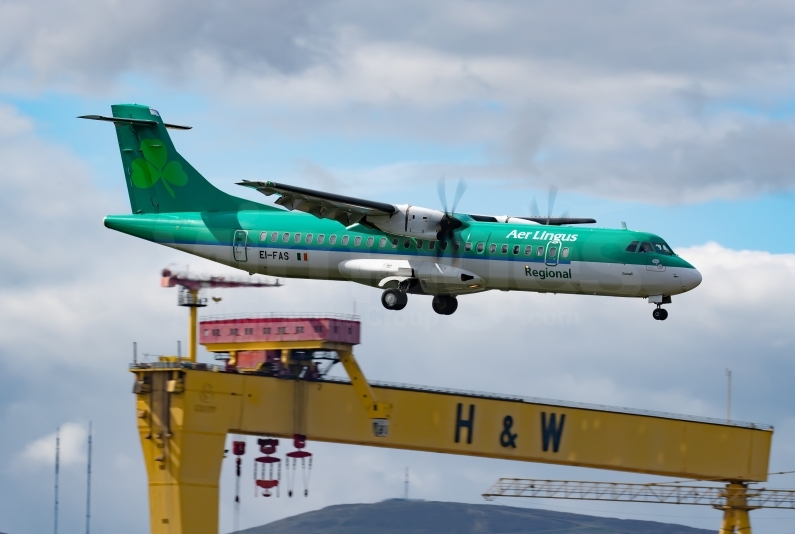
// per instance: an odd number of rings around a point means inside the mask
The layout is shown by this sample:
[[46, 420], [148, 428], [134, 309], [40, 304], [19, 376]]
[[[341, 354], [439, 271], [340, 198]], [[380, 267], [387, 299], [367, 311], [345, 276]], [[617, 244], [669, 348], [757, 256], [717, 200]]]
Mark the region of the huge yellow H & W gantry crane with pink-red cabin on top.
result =
[[[371, 383], [353, 354], [358, 317], [238, 315], [205, 318], [198, 329], [223, 365], [161, 357], [130, 366], [153, 534], [217, 534], [229, 433], [263, 437], [268, 451], [286, 438], [720, 480], [729, 488], [767, 480], [770, 426]], [[324, 361], [341, 363], [348, 379], [326, 375]], [[745, 506], [737, 503], [733, 510]]]

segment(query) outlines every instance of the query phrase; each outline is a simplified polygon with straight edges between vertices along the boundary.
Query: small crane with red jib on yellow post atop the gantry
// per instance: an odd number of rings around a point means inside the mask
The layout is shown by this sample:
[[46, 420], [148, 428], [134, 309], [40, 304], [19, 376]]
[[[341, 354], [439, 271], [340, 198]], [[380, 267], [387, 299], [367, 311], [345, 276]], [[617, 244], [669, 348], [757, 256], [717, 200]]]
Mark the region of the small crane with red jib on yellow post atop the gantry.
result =
[[163, 269], [160, 278], [161, 287], [179, 287], [177, 305], [190, 309], [188, 327], [188, 360], [196, 361], [196, 326], [198, 325], [198, 309], [207, 306], [207, 299], [199, 293], [202, 289], [231, 287], [280, 287], [277, 279], [271, 282], [262, 278], [243, 278], [232, 276], [202, 275], [191, 272], [172, 272]]

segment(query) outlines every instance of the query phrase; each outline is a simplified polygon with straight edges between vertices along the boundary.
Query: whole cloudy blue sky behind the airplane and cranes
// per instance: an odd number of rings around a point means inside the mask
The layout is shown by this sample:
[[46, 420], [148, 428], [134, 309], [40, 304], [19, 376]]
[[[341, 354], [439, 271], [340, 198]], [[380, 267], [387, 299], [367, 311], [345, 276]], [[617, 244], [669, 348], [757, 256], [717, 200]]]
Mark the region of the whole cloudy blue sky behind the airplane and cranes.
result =
[[[185, 310], [167, 265], [230, 269], [114, 233], [129, 213], [112, 128], [79, 121], [137, 102], [219, 188], [277, 180], [438, 208], [553, 214], [663, 236], [703, 274], [665, 322], [642, 300], [484, 293], [440, 317], [412, 297], [288, 280], [219, 293], [207, 313], [362, 317], [374, 380], [723, 417], [775, 426], [771, 471], [795, 470], [795, 6], [791, 2], [0, 2], [0, 532], [53, 523], [56, 428], [64, 534], [147, 528], [134, 423], [132, 343], [173, 353]], [[210, 356], [202, 354], [204, 361]], [[340, 503], [482, 502], [498, 477], [651, 477], [332, 444], [308, 498], [243, 492], [241, 527]], [[246, 481], [247, 482], [247, 481]], [[770, 488], [795, 487], [795, 475]], [[221, 482], [221, 532], [233, 479]], [[708, 507], [503, 502], [717, 528]], [[792, 512], [752, 513], [795, 532]]]

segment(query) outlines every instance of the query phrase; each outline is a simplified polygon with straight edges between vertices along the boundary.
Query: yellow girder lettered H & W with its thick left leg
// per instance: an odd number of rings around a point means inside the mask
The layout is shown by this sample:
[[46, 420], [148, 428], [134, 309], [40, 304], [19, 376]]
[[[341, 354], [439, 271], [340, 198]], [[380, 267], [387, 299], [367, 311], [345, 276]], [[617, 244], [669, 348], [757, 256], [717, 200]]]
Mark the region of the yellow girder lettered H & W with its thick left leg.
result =
[[175, 369], [133, 369], [155, 534], [217, 533], [227, 432], [681, 478], [767, 478], [771, 429], [376, 385], [372, 395], [392, 406], [379, 437], [348, 383], [157, 365]]

